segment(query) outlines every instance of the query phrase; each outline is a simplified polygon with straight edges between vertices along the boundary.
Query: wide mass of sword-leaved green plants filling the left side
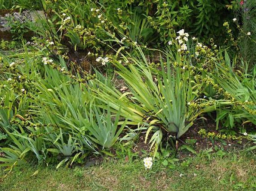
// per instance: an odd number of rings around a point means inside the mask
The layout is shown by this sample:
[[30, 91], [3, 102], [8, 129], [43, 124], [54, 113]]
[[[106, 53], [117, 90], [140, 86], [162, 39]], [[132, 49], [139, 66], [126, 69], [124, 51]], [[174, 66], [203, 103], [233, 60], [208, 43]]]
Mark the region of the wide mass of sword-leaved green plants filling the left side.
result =
[[[47, 165], [60, 159], [57, 167], [64, 163], [72, 165], [78, 156], [83, 158], [88, 152], [98, 153], [101, 149], [97, 144], [110, 148], [125, 125], [118, 126], [118, 115], [112, 122], [110, 111], [108, 114], [98, 109], [90, 111], [97, 104], [90, 99], [93, 94], [88, 89], [94, 86], [93, 83], [77, 83], [72, 79], [75, 76], [69, 77], [65, 66], [58, 66], [58, 71], [52, 68], [55, 66], [52, 61], [44, 58], [43, 65], [40, 59], [27, 57], [24, 64], [4, 63], [2, 70], [0, 130], [3, 139], [5, 134], [8, 137], [0, 147], [5, 156], [0, 162], [5, 162], [4, 166], [10, 166], [10, 170], [34, 157], [38, 163]], [[6, 80], [5, 75], [12, 79]], [[96, 127], [106, 129], [99, 134], [93, 131]]]

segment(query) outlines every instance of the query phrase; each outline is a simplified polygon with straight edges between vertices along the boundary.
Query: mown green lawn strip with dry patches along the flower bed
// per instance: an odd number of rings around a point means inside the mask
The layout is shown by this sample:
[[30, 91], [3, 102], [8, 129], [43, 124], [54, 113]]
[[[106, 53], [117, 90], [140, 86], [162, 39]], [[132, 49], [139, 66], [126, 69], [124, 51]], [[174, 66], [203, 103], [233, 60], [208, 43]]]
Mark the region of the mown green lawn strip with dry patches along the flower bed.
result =
[[154, 162], [145, 170], [142, 160], [113, 159], [89, 168], [29, 165], [15, 168], [0, 190], [256, 190], [255, 161], [251, 152], [219, 156], [204, 151], [177, 163], [175, 169]]

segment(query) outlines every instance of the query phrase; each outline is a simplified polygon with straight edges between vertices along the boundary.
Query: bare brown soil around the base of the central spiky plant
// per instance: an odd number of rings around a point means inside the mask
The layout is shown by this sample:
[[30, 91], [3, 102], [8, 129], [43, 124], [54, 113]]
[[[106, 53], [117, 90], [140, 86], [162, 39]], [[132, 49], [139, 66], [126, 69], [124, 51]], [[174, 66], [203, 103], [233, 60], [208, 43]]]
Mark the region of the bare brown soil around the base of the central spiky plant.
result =
[[[237, 140], [222, 140], [222, 139], [209, 139], [206, 137], [202, 137], [198, 134], [198, 131], [204, 128], [207, 132], [215, 132], [216, 134], [219, 133], [219, 130], [216, 130], [216, 123], [212, 120], [205, 121], [205, 122], [196, 122], [189, 130], [180, 138], [178, 139], [178, 153], [177, 156], [179, 159], [183, 159], [188, 156], [193, 156], [191, 152], [186, 149], [181, 150], [180, 148], [182, 145], [186, 144], [192, 149], [194, 149], [197, 153], [202, 150], [213, 149], [213, 152], [218, 152], [218, 150], [223, 150], [223, 152], [234, 151], [237, 149], [244, 149], [252, 145], [252, 143], [243, 138], [241, 143]], [[220, 128], [220, 127], [219, 127]], [[145, 152], [150, 152], [151, 143], [148, 144], [152, 134], [149, 134], [147, 143], [145, 143], [145, 134], [141, 134], [138, 140], [134, 143], [133, 152], [138, 153], [139, 156], [143, 156]], [[164, 135], [163, 139], [168, 139], [168, 135]], [[238, 134], [237, 136], [240, 136]], [[194, 144], [189, 144], [188, 140], [195, 141]], [[218, 149], [217, 149], [218, 148]], [[151, 149], [153, 152], [154, 147]]]

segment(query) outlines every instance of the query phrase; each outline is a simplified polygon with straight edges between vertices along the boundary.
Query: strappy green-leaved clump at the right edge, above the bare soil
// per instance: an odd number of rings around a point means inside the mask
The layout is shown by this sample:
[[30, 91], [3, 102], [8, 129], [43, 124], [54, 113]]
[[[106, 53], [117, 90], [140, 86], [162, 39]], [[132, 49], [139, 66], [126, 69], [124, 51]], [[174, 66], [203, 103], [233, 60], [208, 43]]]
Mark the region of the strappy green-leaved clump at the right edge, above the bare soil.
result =
[[[228, 58], [228, 55], [226, 55]], [[231, 66], [230, 59], [225, 66], [217, 65], [218, 74], [214, 74], [216, 82], [232, 96], [232, 108], [221, 109], [217, 121], [229, 121], [229, 124], [225, 124], [227, 127], [234, 127], [234, 120], [236, 119], [243, 124], [252, 122], [256, 124], [255, 109], [256, 109], [256, 68], [253, 74], [249, 74], [246, 71], [235, 70]], [[234, 65], [233, 65], [234, 66]], [[228, 118], [229, 120], [227, 120]], [[225, 119], [225, 120], [223, 120]]]

